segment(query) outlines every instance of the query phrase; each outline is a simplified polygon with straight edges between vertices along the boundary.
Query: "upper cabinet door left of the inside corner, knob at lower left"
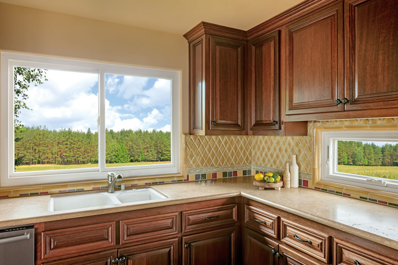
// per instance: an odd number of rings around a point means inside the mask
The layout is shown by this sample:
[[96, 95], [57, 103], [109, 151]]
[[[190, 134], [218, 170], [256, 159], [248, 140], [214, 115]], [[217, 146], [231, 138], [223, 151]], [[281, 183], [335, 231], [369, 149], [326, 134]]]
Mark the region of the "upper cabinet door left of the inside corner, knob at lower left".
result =
[[209, 122], [210, 130], [243, 131], [245, 43], [213, 36], [209, 36], [209, 41], [209, 111], [206, 112], [209, 119], [206, 122]]

